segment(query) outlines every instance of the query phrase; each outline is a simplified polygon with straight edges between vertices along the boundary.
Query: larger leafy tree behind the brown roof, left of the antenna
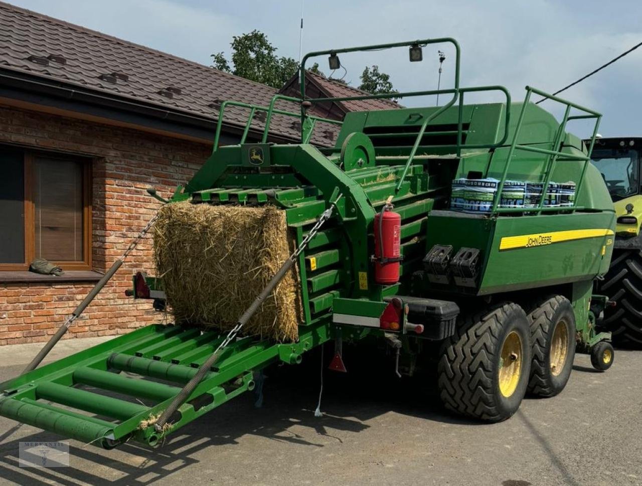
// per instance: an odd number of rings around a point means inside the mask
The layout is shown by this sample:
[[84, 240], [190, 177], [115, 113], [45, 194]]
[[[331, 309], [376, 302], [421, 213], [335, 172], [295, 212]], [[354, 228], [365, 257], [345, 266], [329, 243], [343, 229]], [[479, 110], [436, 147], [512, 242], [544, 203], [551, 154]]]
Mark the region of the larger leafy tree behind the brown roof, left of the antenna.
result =
[[230, 42], [232, 65], [223, 52], [213, 54], [213, 67], [248, 80], [280, 88], [299, 69], [299, 62], [291, 57], [277, 56], [277, 48], [258, 30], [235, 35]]

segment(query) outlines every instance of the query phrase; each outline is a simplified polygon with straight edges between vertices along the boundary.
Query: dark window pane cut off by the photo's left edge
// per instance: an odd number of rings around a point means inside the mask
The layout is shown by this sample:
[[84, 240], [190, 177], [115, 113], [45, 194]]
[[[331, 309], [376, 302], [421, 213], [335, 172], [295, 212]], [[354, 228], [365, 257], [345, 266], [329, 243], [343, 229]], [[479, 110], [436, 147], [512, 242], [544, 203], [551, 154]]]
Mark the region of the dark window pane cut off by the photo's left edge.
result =
[[24, 263], [24, 157], [0, 148], [0, 263]]

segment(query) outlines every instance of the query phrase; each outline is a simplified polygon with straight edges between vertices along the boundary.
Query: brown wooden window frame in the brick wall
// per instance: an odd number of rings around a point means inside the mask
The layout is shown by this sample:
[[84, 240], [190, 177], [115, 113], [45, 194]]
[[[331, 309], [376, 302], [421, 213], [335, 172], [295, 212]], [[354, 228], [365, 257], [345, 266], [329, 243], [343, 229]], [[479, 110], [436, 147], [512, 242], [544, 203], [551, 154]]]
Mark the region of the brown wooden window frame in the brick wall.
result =
[[[4, 147], [0, 146], [0, 150]], [[41, 150], [30, 150], [28, 148], [18, 148], [22, 150], [24, 163], [24, 263], [0, 263], [0, 272], [16, 272], [29, 270], [29, 264], [35, 258], [35, 203], [33, 202], [33, 161], [37, 157], [47, 157], [48, 159], [60, 159], [64, 161], [77, 161], [82, 163], [83, 168], [83, 261], [53, 261], [63, 270], [92, 270], [92, 159], [79, 157], [78, 155], [43, 152]]]

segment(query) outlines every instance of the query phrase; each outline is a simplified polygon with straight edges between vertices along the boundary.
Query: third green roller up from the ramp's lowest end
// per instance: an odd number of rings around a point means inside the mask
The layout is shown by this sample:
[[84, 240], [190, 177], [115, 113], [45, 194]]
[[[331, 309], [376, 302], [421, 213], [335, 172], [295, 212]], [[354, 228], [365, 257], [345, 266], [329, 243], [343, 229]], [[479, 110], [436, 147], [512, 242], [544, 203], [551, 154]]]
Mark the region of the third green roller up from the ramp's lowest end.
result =
[[148, 398], [158, 402], [175, 397], [180, 391], [177, 386], [163, 385], [145, 379], [126, 378], [126, 376], [94, 368], [78, 368], [73, 372], [73, 379], [74, 383], [83, 383], [103, 390], [131, 397]]

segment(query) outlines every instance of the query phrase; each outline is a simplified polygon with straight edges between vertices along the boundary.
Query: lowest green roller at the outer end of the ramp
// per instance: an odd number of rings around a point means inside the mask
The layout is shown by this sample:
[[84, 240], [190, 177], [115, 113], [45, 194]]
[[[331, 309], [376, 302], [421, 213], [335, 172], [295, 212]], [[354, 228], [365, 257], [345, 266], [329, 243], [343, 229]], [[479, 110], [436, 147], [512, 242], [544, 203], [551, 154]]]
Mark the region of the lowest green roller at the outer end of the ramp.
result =
[[[103, 447], [108, 447], [107, 437], [112, 435], [114, 424], [97, 423], [98, 419], [85, 417], [78, 413], [56, 409], [51, 405], [43, 406], [29, 399], [4, 399], [0, 401], [0, 415], [31, 426], [49, 430], [65, 437], [74, 438], [89, 444], [98, 439]], [[96, 442], [94, 442], [96, 444]]]

